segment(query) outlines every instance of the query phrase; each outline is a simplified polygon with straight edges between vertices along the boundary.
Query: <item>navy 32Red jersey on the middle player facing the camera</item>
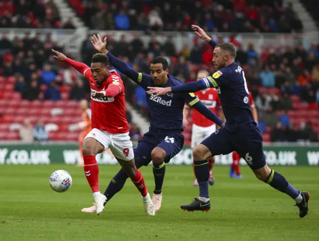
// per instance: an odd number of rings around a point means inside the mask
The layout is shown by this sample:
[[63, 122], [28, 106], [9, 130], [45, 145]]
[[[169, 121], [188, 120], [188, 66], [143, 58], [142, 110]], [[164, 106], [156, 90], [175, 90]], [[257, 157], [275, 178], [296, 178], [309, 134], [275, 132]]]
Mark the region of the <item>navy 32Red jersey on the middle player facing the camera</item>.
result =
[[[138, 83], [145, 91], [148, 87], [154, 87], [152, 77], [148, 74], [139, 73]], [[182, 85], [183, 82], [168, 75], [168, 81], [160, 87], [171, 87]], [[158, 87], [158, 86], [157, 86]], [[183, 129], [183, 109], [185, 103], [193, 106], [199, 99], [193, 93], [174, 93], [155, 97], [154, 94], [146, 95], [149, 108], [150, 130], [156, 129]]]

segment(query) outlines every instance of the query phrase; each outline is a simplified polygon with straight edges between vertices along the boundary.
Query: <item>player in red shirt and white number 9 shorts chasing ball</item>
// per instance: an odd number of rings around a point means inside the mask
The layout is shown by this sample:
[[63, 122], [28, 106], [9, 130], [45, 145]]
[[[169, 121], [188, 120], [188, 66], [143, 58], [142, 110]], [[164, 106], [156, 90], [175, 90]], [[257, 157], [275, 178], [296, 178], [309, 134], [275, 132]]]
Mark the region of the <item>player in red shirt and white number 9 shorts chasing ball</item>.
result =
[[65, 61], [83, 74], [91, 87], [91, 125], [92, 130], [83, 141], [84, 172], [91, 186], [95, 205], [82, 212], [95, 212], [99, 215], [104, 209], [107, 198], [99, 187], [99, 167], [95, 156], [110, 148], [142, 195], [145, 212], [155, 215], [150, 194], [146, 188], [142, 173], [134, 162], [133, 145], [129, 135], [129, 123], [126, 120], [124, 85], [121, 76], [110, 71], [109, 59], [105, 54], [95, 54], [91, 67], [67, 58], [52, 49], [55, 58]]

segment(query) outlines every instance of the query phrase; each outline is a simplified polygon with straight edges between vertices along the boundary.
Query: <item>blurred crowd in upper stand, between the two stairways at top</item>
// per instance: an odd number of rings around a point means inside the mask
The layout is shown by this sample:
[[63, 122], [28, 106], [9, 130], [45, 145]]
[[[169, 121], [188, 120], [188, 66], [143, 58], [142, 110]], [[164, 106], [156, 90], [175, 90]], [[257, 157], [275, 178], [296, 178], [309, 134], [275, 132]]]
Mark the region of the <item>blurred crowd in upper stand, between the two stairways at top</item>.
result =
[[[283, 0], [69, 0], [91, 29], [218, 32], [301, 32], [293, 5]], [[296, 9], [295, 9], [296, 10]], [[298, 9], [297, 9], [298, 10]]]

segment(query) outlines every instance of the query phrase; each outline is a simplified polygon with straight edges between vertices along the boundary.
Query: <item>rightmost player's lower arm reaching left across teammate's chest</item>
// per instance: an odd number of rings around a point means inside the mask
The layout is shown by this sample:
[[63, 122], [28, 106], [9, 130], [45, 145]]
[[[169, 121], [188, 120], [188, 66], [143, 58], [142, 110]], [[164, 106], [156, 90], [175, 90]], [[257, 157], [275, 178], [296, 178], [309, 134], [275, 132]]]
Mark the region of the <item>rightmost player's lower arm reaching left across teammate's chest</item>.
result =
[[179, 86], [172, 86], [166, 88], [160, 87], [148, 87], [150, 90], [147, 91], [148, 94], [155, 94], [156, 96], [162, 96], [170, 93], [192, 93], [200, 90], [207, 89], [206, 84], [203, 82], [203, 79], [198, 81], [189, 82]]

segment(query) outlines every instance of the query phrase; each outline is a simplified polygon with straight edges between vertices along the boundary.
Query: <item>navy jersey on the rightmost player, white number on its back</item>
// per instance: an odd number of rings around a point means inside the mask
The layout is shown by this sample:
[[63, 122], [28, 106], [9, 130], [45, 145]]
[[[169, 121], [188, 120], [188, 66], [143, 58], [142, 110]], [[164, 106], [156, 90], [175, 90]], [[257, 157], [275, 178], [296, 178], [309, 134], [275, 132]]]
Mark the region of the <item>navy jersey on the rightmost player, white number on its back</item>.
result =
[[201, 79], [207, 88], [216, 88], [226, 118], [226, 129], [257, 125], [249, 106], [249, 91], [243, 69], [233, 62]]

